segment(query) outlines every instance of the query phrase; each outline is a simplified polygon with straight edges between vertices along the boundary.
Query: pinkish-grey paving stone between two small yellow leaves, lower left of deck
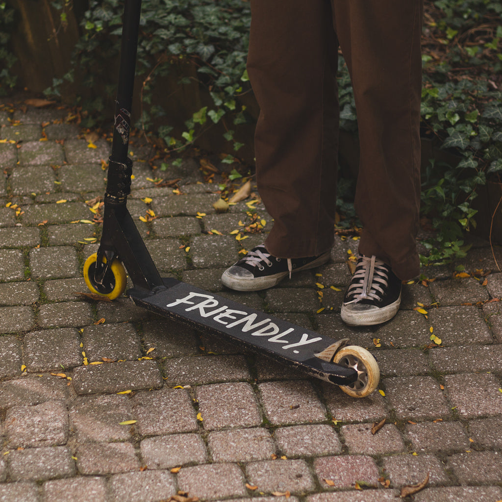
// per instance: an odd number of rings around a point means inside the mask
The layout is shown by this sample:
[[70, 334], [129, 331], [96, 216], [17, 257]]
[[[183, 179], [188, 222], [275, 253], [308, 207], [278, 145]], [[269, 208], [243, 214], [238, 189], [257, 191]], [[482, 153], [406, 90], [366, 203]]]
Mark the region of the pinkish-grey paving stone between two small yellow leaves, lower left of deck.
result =
[[185, 389], [140, 392], [133, 398], [133, 414], [138, 420], [136, 428], [143, 436], [198, 429], [195, 410]]

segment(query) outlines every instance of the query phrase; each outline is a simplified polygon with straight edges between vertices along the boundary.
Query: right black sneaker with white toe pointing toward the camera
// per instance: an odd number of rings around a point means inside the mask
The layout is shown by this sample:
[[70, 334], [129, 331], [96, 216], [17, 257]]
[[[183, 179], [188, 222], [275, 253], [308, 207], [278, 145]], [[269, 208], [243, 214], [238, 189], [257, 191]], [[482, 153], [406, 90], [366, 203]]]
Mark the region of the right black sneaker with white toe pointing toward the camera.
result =
[[392, 319], [401, 304], [401, 280], [375, 256], [360, 256], [345, 292], [342, 320], [350, 326], [370, 326]]

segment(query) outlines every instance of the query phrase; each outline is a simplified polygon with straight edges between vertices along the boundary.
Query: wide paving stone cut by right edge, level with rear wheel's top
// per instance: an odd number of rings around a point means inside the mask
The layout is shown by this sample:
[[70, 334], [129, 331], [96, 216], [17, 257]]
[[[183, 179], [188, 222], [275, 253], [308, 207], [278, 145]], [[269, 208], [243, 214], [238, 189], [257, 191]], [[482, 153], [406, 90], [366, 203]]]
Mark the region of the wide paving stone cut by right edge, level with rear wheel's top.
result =
[[502, 345], [469, 345], [429, 351], [434, 367], [441, 373], [497, 371], [502, 367]]

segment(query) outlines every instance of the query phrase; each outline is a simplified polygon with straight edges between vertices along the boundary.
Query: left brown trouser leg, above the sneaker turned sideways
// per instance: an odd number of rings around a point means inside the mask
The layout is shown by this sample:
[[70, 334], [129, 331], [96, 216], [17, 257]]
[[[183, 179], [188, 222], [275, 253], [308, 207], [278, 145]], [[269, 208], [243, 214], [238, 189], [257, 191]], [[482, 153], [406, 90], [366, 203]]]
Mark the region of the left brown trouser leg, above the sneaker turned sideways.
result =
[[258, 189], [274, 218], [265, 242], [280, 258], [333, 243], [338, 105], [329, 0], [252, 0], [247, 70], [261, 108]]

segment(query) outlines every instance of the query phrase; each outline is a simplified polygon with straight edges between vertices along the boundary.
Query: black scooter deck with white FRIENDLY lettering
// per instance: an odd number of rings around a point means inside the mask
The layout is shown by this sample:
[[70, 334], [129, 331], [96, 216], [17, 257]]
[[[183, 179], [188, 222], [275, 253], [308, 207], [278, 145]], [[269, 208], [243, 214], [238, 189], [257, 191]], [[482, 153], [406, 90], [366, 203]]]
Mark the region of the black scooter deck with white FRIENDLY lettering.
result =
[[279, 362], [318, 379], [348, 385], [357, 372], [328, 362], [315, 354], [336, 342], [333, 338], [301, 328], [173, 278], [163, 278], [165, 288], [152, 293], [131, 289], [136, 305], [211, 334], [242, 343]]

